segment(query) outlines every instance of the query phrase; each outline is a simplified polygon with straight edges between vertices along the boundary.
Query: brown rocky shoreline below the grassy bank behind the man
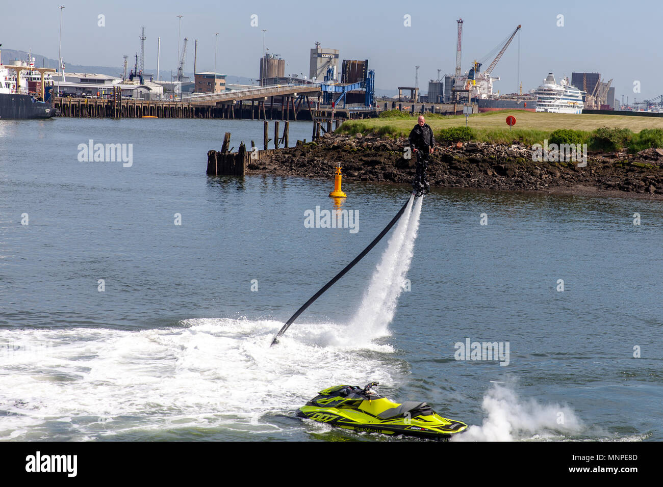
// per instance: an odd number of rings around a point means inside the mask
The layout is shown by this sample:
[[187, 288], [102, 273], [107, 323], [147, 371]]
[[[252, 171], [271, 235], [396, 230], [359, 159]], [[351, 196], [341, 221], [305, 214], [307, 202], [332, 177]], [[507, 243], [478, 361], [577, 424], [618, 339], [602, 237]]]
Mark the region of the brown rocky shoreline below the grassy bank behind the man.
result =
[[[316, 142], [280, 149], [250, 161], [246, 174], [330, 179], [338, 162], [344, 180], [410, 184], [414, 160], [404, 158], [406, 138], [326, 134]], [[437, 146], [428, 167], [432, 188], [477, 188], [663, 199], [663, 149], [638, 154], [589, 154], [575, 162], [534, 162], [533, 150], [465, 142]]]

